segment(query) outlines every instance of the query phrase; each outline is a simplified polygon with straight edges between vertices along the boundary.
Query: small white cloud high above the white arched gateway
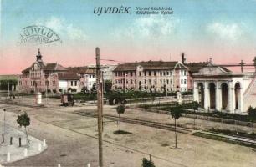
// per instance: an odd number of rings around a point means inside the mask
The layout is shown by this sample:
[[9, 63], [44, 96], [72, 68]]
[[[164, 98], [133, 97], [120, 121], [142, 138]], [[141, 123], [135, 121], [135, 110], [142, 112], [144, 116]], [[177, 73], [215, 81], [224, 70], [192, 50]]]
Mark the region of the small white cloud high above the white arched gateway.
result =
[[227, 40], [238, 40], [243, 35], [243, 28], [237, 23], [210, 23], [207, 25], [207, 31], [219, 38]]

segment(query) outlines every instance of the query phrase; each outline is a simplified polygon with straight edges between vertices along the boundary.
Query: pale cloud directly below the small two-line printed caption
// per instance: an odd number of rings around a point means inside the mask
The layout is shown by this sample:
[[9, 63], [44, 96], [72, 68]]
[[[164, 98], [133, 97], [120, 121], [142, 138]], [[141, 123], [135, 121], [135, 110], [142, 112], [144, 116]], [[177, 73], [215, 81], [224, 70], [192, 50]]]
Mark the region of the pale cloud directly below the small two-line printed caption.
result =
[[177, 18], [151, 15], [146, 18], [136, 18], [131, 25], [122, 28], [122, 31], [116, 30], [115, 35], [119, 37], [125, 35], [129, 38], [164, 38], [174, 33], [180, 22]]

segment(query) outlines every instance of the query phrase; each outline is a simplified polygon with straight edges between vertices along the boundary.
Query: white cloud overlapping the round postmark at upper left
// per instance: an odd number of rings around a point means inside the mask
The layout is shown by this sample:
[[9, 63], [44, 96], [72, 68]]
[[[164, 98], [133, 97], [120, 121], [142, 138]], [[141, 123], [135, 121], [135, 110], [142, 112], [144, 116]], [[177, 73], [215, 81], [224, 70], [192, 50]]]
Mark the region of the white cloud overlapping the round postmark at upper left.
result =
[[68, 23], [63, 18], [51, 17], [42, 20], [36, 21], [37, 25], [44, 25], [48, 28], [53, 29], [61, 37], [67, 37], [71, 40], [82, 40], [87, 39], [87, 35], [79, 27], [74, 26], [72, 23]]

